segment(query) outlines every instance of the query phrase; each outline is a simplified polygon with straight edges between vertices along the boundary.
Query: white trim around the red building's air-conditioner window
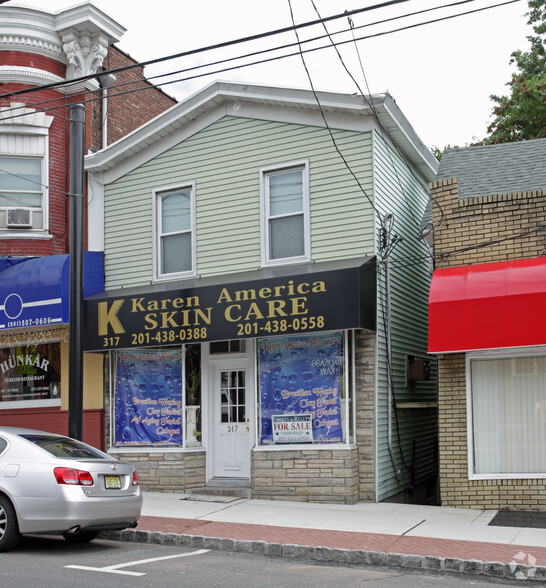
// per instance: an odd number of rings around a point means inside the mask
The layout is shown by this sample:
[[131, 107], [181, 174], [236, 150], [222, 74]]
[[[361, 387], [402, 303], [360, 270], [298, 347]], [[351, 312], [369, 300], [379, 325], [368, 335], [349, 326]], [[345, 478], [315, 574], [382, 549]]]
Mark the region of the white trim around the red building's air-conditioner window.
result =
[[[46, 117], [52, 119], [52, 117]], [[49, 122], [49, 124], [51, 124]], [[51, 238], [49, 234], [49, 124], [46, 127], [34, 127], [22, 125], [17, 127], [14, 124], [0, 124], [0, 134], [6, 135], [25, 135], [25, 136], [37, 136], [44, 137], [44, 152], [38, 153], [25, 153], [22, 151], [17, 152], [0, 152], [0, 155], [6, 157], [40, 157], [42, 163], [42, 214], [43, 214], [43, 227], [41, 229], [24, 229], [17, 230], [8, 227], [1, 227], [0, 233], [3, 239], [43, 239]], [[24, 206], [21, 208], [25, 208]]]

